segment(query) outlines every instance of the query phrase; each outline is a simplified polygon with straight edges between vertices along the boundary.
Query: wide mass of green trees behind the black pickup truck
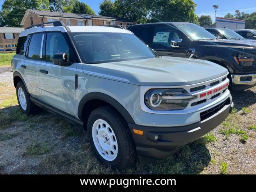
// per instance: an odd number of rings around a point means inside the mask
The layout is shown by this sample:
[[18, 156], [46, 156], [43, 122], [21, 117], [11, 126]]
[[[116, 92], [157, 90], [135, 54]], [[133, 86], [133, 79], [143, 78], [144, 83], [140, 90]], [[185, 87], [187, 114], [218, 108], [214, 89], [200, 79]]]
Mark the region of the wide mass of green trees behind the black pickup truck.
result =
[[[182, 21], [197, 23], [193, 0], [104, 0], [102, 16], [123, 17], [139, 22]], [[107, 15], [108, 14], [108, 15]]]

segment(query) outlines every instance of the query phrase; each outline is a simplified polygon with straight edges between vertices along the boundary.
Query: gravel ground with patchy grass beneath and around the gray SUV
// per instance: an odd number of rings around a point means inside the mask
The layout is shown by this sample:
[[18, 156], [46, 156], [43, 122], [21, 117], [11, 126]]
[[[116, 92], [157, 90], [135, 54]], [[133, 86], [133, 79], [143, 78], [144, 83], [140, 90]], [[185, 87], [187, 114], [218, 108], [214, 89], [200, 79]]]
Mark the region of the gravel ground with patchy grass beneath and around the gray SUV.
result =
[[[15, 95], [10, 70], [0, 68], [0, 104]], [[0, 121], [8, 119], [0, 122], [0, 174], [256, 174], [256, 130], [248, 129], [256, 125], [256, 88], [232, 96], [238, 111], [225, 122], [248, 134], [245, 143], [240, 135], [221, 134], [223, 123], [211, 132], [216, 142], [199, 139], [170, 158], [121, 172], [99, 164], [84, 130], [48, 112], [28, 117], [18, 106], [0, 107]], [[243, 107], [248, 114], [242, 114]]]

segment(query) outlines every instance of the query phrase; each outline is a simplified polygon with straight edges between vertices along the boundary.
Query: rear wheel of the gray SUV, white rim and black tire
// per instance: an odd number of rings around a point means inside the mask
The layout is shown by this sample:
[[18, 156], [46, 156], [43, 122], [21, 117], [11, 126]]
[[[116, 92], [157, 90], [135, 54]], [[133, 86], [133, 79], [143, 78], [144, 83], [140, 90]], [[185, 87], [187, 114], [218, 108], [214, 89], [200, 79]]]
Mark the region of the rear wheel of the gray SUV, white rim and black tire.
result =
[[16, 86], [16, 95], [18, 99], [18, 104], [20, 106], [20, 110], [23, 113], [30, 115], [33, 111], [33, 104], [29, 99], [28, 92], [23, 82], [18, 82]]

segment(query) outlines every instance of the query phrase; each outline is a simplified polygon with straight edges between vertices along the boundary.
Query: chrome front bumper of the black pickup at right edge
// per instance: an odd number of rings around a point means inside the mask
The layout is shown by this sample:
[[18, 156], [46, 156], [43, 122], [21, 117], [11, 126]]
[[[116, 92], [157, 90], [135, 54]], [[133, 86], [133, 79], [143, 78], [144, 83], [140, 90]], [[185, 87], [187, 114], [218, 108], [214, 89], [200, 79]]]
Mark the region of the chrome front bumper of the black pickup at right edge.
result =
[[256, 74], [231, 74], [232, 90], [245, 90], [256, 86]]

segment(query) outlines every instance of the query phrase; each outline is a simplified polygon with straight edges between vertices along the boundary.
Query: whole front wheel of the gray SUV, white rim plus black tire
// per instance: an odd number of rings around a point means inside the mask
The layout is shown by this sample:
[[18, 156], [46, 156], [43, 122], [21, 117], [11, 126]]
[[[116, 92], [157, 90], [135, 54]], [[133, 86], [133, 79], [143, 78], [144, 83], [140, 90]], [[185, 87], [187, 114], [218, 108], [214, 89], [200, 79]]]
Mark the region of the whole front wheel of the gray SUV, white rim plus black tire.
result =
[[92, 151], [100, 162], [120, 170], [135, 163], [132, 134], [114, 108], [102, 106], [93, 110], [87, 128]]

